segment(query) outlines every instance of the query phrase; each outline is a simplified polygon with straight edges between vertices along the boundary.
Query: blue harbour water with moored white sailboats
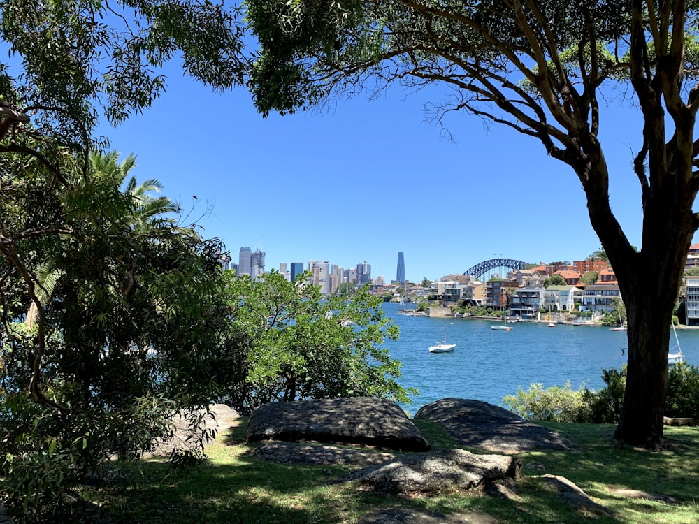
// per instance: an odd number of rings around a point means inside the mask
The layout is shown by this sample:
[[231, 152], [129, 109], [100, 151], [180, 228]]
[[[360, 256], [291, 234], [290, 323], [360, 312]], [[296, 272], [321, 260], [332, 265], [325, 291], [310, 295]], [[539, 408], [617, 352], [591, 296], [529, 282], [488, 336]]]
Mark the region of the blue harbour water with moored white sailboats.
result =
[[[452, 353], [431, 354], [428, 347], [444, 334], [444, 320], [398, 314], [395, 303], [384, 312], [401, 329], [400, 340], [387, 342], [391, 357], [403, 363], [400, 383], [419, 389], [408, 412], [445, 397], [474, 398], [502, 405], [505, 395], [540, 382], [545, 388], [605, 386], [602, 370], [626, 363], [621, 354], [626, 332], [605, 327], [549, 328], [545, 323], [514, 323], [512, 331], [493, 331], [485, 320], [447, 319], [447, 340]], [[501, 323], [502, 321], [500, 321]], [[686, 361], [699, 365], [699, 330], [677, 330]], [[674, 343], [674, 341], [673, 341]], [[674, 345], [674, 344], [671, 344]]]

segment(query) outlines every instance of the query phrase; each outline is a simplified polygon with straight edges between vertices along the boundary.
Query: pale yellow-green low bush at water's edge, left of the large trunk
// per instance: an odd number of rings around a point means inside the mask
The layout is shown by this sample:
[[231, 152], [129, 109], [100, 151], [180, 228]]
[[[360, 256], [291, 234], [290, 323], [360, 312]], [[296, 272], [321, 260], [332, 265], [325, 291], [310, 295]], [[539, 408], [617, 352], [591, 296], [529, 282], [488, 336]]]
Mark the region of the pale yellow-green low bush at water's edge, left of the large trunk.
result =
[[573, 391], [570, 381], [562, 388], [544, 389], [542, 384], [531, 384], [528, 391], [519, 387], [517, 395], [507, 395], [503, 402], [526, 421], [586, 423], [590, 421], [589, 406], [584, 402], [586, 391]]

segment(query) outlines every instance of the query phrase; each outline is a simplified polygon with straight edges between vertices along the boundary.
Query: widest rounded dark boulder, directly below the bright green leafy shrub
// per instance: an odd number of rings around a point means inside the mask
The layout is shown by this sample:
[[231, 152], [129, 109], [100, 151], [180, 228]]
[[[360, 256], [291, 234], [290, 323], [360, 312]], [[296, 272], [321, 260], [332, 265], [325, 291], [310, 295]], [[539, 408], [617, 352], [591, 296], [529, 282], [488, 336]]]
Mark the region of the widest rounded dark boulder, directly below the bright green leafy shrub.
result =
[[273, 402], [252, 412], [247, 442], [315, 440], [366, 444], [398, 451], [427, 451], [430, 444], [396, 402], [334, 398]]

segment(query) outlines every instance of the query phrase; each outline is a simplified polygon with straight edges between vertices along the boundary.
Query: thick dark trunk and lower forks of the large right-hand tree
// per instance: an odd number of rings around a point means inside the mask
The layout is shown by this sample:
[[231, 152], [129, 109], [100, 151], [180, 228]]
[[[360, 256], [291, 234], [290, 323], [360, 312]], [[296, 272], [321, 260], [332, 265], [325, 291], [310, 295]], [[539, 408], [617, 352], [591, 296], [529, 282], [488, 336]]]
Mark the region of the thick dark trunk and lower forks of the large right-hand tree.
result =
[[[648, 127], [646, 128], [648, 132]], [[662, 129], [658, 130], [662, 136]], [[658, 147], [668, 161], [651, 162], [642, 189], [642, 249], [636, 252], [609, 205], [607, 167], [595, 138], [585, 144], [578, 168], [584, 182], [591, 224], [617, 275], [628, 314], [628, 367], [621, 419], [614, 438], [656, 449], [663, 437], [663, 406], [668, 384], [670, 322], [696, 229], [692, 206], [692, 144], [685, 138]], [[665, 156], [666, 152], [672, 152]]]

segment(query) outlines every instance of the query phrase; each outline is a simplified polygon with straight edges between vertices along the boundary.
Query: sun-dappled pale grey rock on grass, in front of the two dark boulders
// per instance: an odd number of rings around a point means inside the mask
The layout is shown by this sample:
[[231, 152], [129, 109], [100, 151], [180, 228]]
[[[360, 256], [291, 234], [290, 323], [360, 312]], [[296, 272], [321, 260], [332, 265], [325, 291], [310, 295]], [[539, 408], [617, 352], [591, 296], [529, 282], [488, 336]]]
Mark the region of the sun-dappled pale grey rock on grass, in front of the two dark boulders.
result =
[[468, 490], [481, 483], [521, 476], [519, 458], [476, 455], [465, 449], [401, 455], [380, 466], [365, 467], [342, 481], [357, 481], [381, 493], [436, 495]]

